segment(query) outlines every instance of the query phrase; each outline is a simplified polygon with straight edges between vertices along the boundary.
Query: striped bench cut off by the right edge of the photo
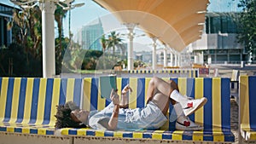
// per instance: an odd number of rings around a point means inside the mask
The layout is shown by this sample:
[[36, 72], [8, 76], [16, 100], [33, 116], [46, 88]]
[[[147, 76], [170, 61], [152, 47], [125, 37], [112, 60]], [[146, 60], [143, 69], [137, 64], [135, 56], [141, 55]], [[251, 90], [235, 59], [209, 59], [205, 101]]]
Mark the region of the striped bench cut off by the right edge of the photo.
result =
[[256, 76], [240, 76], [239, 89], [241, 137], [256, 141]]

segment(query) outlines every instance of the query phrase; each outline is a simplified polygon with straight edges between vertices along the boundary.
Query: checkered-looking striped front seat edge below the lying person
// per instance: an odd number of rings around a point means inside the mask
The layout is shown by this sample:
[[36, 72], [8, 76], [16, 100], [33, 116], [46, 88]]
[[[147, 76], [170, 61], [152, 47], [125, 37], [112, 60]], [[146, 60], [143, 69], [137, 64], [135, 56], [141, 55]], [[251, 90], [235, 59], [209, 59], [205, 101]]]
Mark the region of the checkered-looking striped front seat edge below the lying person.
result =
[[[234, 141], [231, 132], [215, 132], [214, 134], [203, 131], [183, 131], [183, 130], [91, 130], [85, 129], [61, 129], [61, 135], [113, 137], [125, 139], [145, 139], [145, 140], [169, 140], [169, 141]], [[225, 137], [223, 136], [225, 135]]]

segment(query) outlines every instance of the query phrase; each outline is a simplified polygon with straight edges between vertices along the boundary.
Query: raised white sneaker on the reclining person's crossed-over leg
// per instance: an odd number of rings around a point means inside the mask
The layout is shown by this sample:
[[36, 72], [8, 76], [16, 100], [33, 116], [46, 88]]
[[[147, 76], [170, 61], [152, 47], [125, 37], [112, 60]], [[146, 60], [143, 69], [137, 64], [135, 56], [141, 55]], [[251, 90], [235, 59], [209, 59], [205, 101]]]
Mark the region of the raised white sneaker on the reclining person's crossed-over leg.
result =
[[197, 109], [203, 107], [207, 103], [207, 98], [203, 97], [201, 99], [189, 100], [187, 105], [183, 106], [183, 112], [185, 116], [189, 116], [194, 113]]

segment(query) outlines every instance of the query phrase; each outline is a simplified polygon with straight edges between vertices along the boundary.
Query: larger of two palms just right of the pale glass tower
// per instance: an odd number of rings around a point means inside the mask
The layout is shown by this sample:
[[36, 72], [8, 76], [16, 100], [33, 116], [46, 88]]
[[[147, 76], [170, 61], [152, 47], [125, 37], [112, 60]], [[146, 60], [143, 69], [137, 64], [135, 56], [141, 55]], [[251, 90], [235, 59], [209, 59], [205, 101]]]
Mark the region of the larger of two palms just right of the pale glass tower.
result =
[[115, 47], [122, 43], [123, 39], [119, 37], [119, 33], [110, 32], [108, 35], [108, 48], [113, 48], [113, 56], [115, 55]]

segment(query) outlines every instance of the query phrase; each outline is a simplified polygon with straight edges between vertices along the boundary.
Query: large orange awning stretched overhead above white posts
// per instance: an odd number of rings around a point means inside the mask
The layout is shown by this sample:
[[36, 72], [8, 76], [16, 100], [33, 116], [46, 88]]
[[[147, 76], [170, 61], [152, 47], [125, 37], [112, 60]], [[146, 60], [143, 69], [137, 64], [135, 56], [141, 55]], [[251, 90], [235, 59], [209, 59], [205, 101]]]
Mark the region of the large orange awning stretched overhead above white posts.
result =
[[172, 49], [201, 38], [208, 0], [94, 0], [122, 23], [136, 23]]

